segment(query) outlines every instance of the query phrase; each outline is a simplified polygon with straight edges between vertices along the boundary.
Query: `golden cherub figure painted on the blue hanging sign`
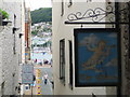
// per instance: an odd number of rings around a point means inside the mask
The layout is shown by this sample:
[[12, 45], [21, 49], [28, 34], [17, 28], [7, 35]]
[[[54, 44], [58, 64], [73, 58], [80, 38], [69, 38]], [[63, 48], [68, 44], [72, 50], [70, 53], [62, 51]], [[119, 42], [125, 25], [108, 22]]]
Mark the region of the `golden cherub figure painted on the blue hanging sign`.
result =
[[[106, 50], [107, 48], [107, 50]], [[110, 46], [106, 46], [104, 40], [99, 41], [96, 47], [90, 47], [87, 43], [87, 50], [93, 52], [94, 54], [82, 65], [84, 70], [98, 70], [96, 65], [101, 64], [110, 52]]]

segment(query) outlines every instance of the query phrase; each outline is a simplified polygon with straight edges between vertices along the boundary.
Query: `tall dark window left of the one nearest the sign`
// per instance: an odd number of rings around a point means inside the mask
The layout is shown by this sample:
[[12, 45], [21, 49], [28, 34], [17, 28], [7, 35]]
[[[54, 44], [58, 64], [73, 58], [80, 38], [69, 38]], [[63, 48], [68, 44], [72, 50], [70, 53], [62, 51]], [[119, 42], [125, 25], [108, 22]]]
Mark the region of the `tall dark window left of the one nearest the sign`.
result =
[[60, 41], [60, 80], [65, 84], [65, 39]]

